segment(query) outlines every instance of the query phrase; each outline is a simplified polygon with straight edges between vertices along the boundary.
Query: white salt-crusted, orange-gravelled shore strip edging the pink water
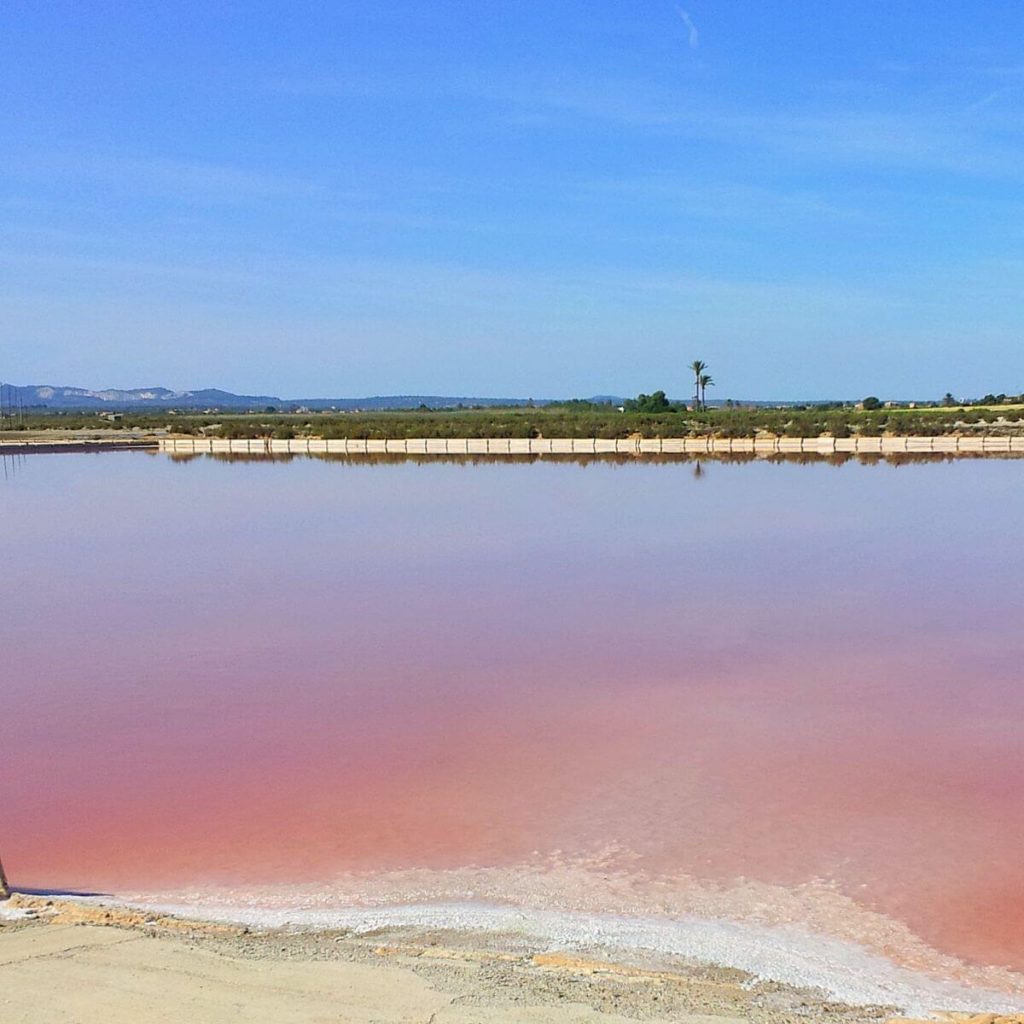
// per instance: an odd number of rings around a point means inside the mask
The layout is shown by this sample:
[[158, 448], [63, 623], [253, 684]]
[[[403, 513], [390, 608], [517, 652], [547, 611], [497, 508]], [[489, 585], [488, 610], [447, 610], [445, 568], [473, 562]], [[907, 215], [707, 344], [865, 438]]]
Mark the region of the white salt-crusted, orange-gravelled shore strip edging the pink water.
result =
[[[289, 961], [318, 962], [343, 943], [350, 955], [372, 949], [374, 957], [429, 955], [432, 963], [482, 957], [518, 970], [557, 970], [577, 982], [582, 975], [601, 982], [610, 979], [634, 989], [642, 981], [652, 985], [671, 981], [688, 989], [696, 979], [705, 985], [710, 977], [732, 991], [738, 979], [737, 991], [726, 999], [727, 1016], [737, 1011], [751, 1014], [759, 997], [768, 993], [773, 1006], [780, 1000], [812, 1005], [812, 1019], [822, 1021], [1024, 1011], [1024, 991], [1000, 992], [939, 980], [853, 942], [794, 926], [570, 913], [486, 903], [275, 910], [16, 892], [0, 907], [5, 907], [0, 909], [0, 942], [5, 932], [71, 925], [185, 937], [191, 944], [212, 944], [223, 955], [243, 958], [276, 951]], [[0, 945], [0, 966], [3, 962]], [[736, 1005], [737, 999], [742, 1006]], [[642, 1016], [649, 1016], [649, 1011]], [[743, 1019], [762, 1018], [755, 1014]]]

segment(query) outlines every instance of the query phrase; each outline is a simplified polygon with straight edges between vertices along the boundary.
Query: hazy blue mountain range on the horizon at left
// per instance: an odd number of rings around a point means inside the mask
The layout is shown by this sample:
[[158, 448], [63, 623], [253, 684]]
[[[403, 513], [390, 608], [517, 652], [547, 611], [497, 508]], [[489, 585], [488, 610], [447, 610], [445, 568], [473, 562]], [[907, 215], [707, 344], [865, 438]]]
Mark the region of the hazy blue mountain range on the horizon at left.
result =
[[[595, 399], [621, 403], [620, 398]], [[530, 398], [479, 398], [436, 394], [377, 395], [369, 398], [280, 398], [272, 394], [233, 394], [219, 388], [172, 391], [166, 387], [106, 388], [92, 391], [84, 387], [55, 387], [51, 384], [0, 384], [0, 406], [4, 410], [110, 410], [181, 409], [262, 411], [272, 408], [287, 412], [307, 410], [455, 409], [458, 406], [543, 406], [546, 400]]]

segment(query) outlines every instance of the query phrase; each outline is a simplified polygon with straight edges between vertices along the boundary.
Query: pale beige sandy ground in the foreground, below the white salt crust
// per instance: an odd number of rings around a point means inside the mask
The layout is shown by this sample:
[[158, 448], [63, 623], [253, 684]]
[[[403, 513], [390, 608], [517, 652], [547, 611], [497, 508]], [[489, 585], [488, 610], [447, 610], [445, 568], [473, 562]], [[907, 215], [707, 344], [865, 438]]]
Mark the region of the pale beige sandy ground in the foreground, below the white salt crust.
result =
[[859, 1024], [894, 1016], [733, 969], [612, 963], [501, 936], [253, 931], [25, 896], [0, 916], [4, 1024]]

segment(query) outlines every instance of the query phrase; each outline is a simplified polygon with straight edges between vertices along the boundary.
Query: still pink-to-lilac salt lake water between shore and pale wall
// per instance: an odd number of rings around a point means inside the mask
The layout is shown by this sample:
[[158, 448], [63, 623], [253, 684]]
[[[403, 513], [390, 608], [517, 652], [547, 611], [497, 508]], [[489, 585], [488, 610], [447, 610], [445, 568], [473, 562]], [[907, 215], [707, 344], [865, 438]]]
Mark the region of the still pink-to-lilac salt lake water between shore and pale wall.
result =
[[705, 469], [29, 460], [12, 882], [597, 858], [1024, 969], [1024, 462]]

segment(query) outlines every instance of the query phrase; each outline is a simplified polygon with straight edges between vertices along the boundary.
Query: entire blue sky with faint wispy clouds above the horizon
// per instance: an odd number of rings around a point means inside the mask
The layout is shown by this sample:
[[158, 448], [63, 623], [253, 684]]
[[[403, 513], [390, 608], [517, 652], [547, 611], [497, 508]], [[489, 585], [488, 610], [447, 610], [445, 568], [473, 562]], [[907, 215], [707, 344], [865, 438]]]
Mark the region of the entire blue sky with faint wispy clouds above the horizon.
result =
[[1024, 4], [0, 11], [0, 378], [1024, 390]]

